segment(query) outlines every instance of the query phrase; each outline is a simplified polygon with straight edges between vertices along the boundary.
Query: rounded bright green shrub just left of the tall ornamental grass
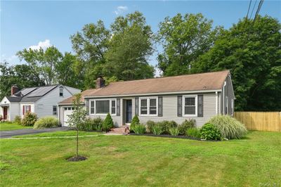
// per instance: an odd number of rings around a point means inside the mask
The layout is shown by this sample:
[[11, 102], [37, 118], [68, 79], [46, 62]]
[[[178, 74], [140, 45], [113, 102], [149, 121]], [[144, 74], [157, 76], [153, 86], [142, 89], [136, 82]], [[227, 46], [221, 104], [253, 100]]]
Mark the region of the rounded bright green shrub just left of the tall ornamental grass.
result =
[[216, 129], [214, 124], [204, 124], [200, 129], [201, 137], [207, 140], [221, 140], [221, 132]]

